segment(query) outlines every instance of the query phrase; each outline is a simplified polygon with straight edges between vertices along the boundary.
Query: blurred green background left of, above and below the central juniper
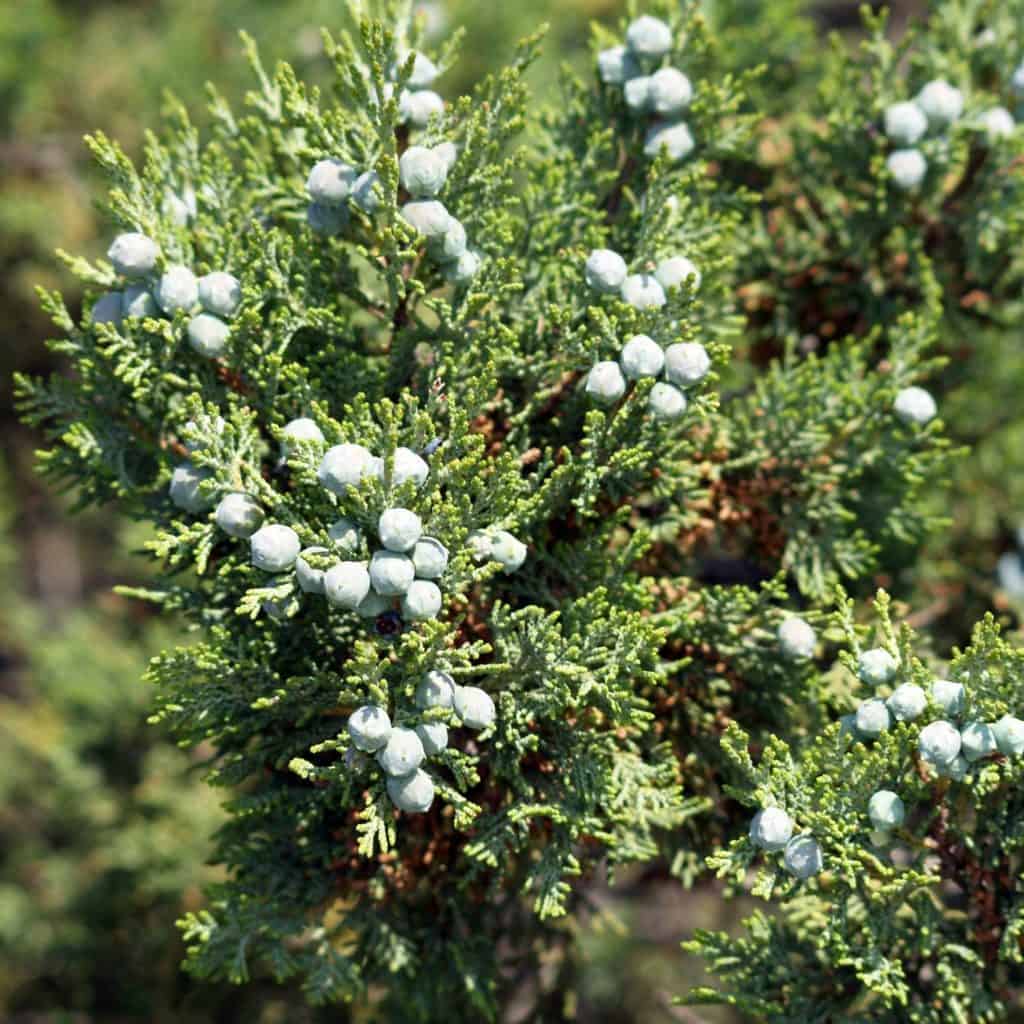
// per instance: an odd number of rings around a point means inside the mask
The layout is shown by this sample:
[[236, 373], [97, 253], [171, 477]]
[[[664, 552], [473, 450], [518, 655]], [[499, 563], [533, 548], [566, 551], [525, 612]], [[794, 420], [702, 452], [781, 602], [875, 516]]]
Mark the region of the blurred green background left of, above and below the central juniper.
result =
[[[219, 818], [202, 782], [204, 752], [185, 754], [146, 724], [147, 657], [183, 642], [112, 593], [140, 582], [137, 527], [113, 510], [71, 517], [66, 497], [32, 472], [36, 441], [14, 419], [10, 374], [60, 368], [44, 348], [48, 325], [34, 288], [76, 283], [57, 248], [95, 255], [109, 230], [93, 201], [100, 182], [82, 135], [101, 129], [137, 154], [164, 90], [202, 123], [204, 82], [239, 100], [249, 87], [238, 31], [267, 62], [285, 58], [310, 80], [327, 73], [318, 27], [341, 0], [0, 0], [0, 1019], [16, 1022], [303, 1022], [346, 1019], [312, 1011], [267, 982], [245, 990], [180, 974], [174, 928], [216, 877], [204, 866]], [[711, 2], [728, 17], [773, 0]], [[552, 23], [541, 95], [561, 60], [582, 66], [588, 23], [613, 24], [618, 0], [449, 0], [425, 5], [433, 31], [468, 30], [464, 57], [443, 80], [468, 88], [517, 38]], [[777, 4], [791, 9], [793, 4]], [[820, 29], [848, 28], [854, 4], [818, 5]], [[725, 16], [725, 15], [722, 15]], [[899, 25], [897, 18], [896, 25]], [[750, 43], [750, 60], [763, 58]], [[777, 70], [777, 69], [776, 69]], [[998, 457], [996, 469], [998, 470]], [[995, 530], [997, 524], [992, 526]], [[679, 952], [695, 927], [728, 927], [746, 909], [714, 887], [683, 892], [638, 873], [596, 886], [585, 920], [587, 967], [579, 1019], [607, 1024], [734, 1020], [673, 1008], [702, 980]], [[517, 1016], [510, 1006], [508, 1020]]]

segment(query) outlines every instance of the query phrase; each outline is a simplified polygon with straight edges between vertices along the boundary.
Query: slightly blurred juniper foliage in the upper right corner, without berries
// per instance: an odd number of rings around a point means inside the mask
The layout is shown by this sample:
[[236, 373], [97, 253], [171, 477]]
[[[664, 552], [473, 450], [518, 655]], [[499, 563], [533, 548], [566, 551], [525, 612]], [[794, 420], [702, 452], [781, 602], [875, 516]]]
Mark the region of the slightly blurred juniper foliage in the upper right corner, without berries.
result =
[[[1016, 106], [1012, 6], [945, 3], [935, 24], [899, 42], [887, 35], [885, 13], [868, 15], [857, 47], [833, 40], [813, 106], [766, 125], [760, 172], [770, 202], [755, 221], [757, 268], [744, 289], [760, 354], [791, 337], [827, 345], [866, 334], [937, 292], [950, 338], [992, 310], [1016, 308], [1020, 139], [990, 138], [982, 118]], [[977, 42], [986, 26], [997, 42]], [[883, 114], [938, 78], [963, 90], [965, 111], [919, 143], [928, 174], [903, 191], [885, 167], [899, 146], [886, 137]]]

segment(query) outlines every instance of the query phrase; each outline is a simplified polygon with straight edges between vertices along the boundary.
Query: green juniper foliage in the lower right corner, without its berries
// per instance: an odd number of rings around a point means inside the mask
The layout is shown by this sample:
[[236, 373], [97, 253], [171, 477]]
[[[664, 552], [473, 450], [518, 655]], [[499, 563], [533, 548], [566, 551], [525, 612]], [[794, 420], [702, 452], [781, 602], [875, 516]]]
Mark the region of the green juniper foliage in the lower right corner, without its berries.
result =
[[[893, 688], [912, 682], [929, 692], [942, 672], [965, 686], [957, 721], [1019, 714], [1024, 655], [991, 618], [943, 670], [914, 656], [916, 638], [905, 626], [894, 629], [888, 601], [879, 611], [881, 643], [900, 663]], [[841, 605], [836, 629], [857, 651], [865, 637], [852, 623], [852, 605]], [[757, 765], [749, 737], [730, 729], [723, 739], [733, 766], [729, 794], [755, 809], [787, 809], [797, 830], [821, 846], [825, 874], [816, 885], [797, 883], [778, 869], [778, 855], [759, 853], [745, 837], [713, 857], [733, 888], [761, 861], [754, 892], [774, 896], [782, 912], [756, 913], [740, 938], [698, 933], [689, 948], [722, 975], [726, 993], [699, 990], [692, 1001], [724, 1000], [773, 1021], [1004, 1019], [1022, 978], [1024, 765], [997, 755], [974, 762], [963, 779], [936, 774], [918, 737], [946, 718], [930, 701], [919, 719], [866, 742], [836, 722], [803, 751], [773, 739]], [[879, 790], [896, 792], [906, 806], [903, 825], [888, 836], [874, 833], [867, 815]]]

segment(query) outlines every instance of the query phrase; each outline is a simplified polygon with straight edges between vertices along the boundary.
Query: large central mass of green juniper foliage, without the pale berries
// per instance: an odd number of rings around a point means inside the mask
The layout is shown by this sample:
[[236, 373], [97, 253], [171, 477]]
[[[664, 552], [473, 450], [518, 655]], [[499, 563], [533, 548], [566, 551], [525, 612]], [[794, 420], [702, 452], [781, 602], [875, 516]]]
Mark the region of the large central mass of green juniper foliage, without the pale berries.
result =
[[[972, 289], [1000, 308], [1013, 290], [998, 257], [1017, 237], [1018, 141], [989, 146], [974, 131], [994, 94], [979, 84], [964, 125], [932, 140], [931, 190], [897, 195], [881, 111], [961, 70], [942, 58], [956, 18], [940, 18], [908, 65], [871, 23], [859, 56], [835, 50], [823, 118], [758, 129], [769, 91], [759, 81], [804, 80], [793, 61], [807, 25], [777, 33], [771, 12], [743, 25], [742, 4], [706, 14], [667, 2], [651, 4], [674, 30], [665, 62], [695, 85], [686, 162], [644, 155], [646, 121], [593, 68], [566, 70], [557, 102], [535, 104], [526, 74], [540, 34], [411, 135], [385, 89], [390, 69], [400, 88], [407, 51], [420, 48], [446, 75], [458, 39], [433, 50], [408, 2], [373, 6], [379, 19], [350, 16], [326, 37], [323, 91], [288, 65], [267, 71], [247, 41], [256, 88], [244, 112], [213, 91], [207, 134], [175, 105], [140, 168], [104, 135], [91, 139], [113, 225], [158, 242], [161, 269], [241, 280], [223, 355], [191, 350], [184, 314], [95, 324], [46, 293], [53, 348], [73, 374], [23, 378], [19, 394], [47, 438], [51, 480], [154, 525], [159, 579], [130, 593], [201, 631], [150, 672], [156, 718], [210, 750], [210, 780], [231, 792], [216, 854], [228, 876], [182, 923], [190, 969], [236, 982], [266, 969], [314, 1002], [369, 998], [395, 1018], [486, 1019], [546, 947], [564, 944], [553, 919], [575, 908], [598, 864], [664, 857], [687, 884], [700, 876], [735, 830], [734, 801], [764, 796], [750, 773], [745, 787], [724, 786], [724, 764], [745, 765], [749, 744], [768, 752], [765, 771], [784, 765], [786, 785], [804, 787], [794, 806], [820, 823], [830, 855], [853, 835], [842, 821], [824, 830], [839, 806], [830, 780], [851, 806], [851, 786], [866, 784], [841, 768], [848, 751], [827, 725], [849, 681], [785, 660], [775, 631], [793, 603], [823, 623], [841, 580], [862, 594], [883, 569], [911, 572], [946, 521], [930, 499], [950, 442], [938, 422], [902, 423], [893, 402], [942, 368], [937, 342], [974, 304]], [[595, 30], [594, 49], [624, 28]], [[769, 39], [779, 65], [762, 79], [751, 54]], [[468, 286], [445, 283], [401, 216], [398, 158], [411, 140], [458, 147], [440, 198], [482, 256]], [[786, 160], [765, 158], [766, 141]], [[381, 181], [374, 213], [353, 205], [331, 239], [305, 219], [305, 177], [325, 157]], [[166, 196], [189, 187], [198, 212], [180, 223]], [[967, 245], [982, 224], [981, 244]], [[634, 272], [685, 254], [699, 287], [657, 309], [599, 296], [583, 267], [602, 247]], [[91, 297], [118, 286], [102, 260], [67, 262]], [[712, 356], [676, 421], [648, 414], [649, 380], [611, 409], [586, 394], [589, 369], [636, 333], [699, 341]], [[325, 444], [289, 441], [286, 453], [282, 430], [299, 416]], [[339, 497], [316, 470], [324, 447], [344, 441], [383, 457], [385, 471]], [[399, 446], [427, 456], [422, 487], [391, 484]], [[211, 514], [169, 500], [184, 461], [205, 472], [211, 506], [246, 493], [267, 521], [329, 552], [339, 515], [371, 535], [385, 508], [413, 509], [452, 553], [441, 615], [391, 636], [303, 593], [291, 571], [253, 567]], [[471, 535], [495, 526], [529, 545], [515, 574], [472, 557]], [[425, 815], [398, 815], [345, 723], [367, 702], [397, 724], [420, 721], [413, 695], [434, 668], [490, 691], [497, 721], [471, 735], [429, 713], [453, 731], [429, 763], [438, 799]], [[871, 756], [895, 757], [912, 738], [894, 736]], [[831, 760], [815, 754], [828, 742]], [[749, 853], [740, 841], [714, 862], [741, 874]], [[863, 881], [852, 848], [836, 856]], [[779, 927], [756, 929], [746, 966], [767, 963], [758, 943]], [[883, 943], [857, 927], [843, 941]], [[808, 948], [806, 934], [794, 943]], [[835, 988], [838, 950], [815, 953], [822, 989]], [[883, 975], [880, 997], [913, 1001]], [[793, 977], [802, 1007], [824, 998], [810, 972]], [[976, 980], [995, 992], [989, 975]], [[766, 1012], [767, 997], [743, 994], [762, 981], [733, 971], [735, 1004]]]

